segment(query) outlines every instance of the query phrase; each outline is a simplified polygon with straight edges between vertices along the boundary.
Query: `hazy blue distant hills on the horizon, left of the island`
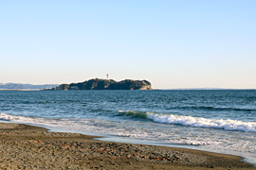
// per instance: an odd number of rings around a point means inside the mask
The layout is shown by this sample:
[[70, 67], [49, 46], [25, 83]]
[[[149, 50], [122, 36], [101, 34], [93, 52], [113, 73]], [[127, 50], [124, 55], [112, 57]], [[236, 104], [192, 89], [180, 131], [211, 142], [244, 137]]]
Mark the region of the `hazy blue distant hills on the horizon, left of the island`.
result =
[[0, 83], [0, 89], [3, 90], [22, 90], [22, 89], [49, 89], [58, 86], [59, 84], [43, 84], [43, 85], [33, 85], [33, 84], [21, 84], [21, 83]]

